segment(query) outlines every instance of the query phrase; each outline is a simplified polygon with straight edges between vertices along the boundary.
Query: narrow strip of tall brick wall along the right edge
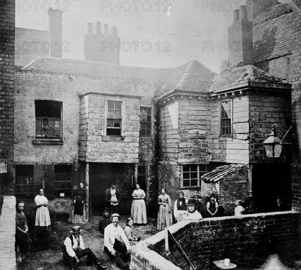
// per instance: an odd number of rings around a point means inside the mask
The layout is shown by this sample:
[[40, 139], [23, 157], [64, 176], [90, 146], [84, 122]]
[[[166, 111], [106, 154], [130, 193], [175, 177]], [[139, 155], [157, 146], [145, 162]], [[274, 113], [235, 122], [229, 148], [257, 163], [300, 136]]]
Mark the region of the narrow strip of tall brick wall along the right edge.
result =
[[[292, 10], [292, 207], [301, 211], [301, 1], [293, 0]], [[294, 195], [295, 194], [295, 195]]]

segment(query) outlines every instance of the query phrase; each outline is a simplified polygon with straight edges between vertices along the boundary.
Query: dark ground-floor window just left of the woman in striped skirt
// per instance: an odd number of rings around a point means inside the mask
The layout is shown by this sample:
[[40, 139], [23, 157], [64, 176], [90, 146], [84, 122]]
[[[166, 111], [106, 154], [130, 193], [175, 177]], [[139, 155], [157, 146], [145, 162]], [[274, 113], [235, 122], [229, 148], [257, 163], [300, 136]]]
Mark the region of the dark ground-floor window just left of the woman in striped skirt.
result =
[[59, 197], [71, 197], [71, 171], [72, 165], [54, 165], [54, 194]]

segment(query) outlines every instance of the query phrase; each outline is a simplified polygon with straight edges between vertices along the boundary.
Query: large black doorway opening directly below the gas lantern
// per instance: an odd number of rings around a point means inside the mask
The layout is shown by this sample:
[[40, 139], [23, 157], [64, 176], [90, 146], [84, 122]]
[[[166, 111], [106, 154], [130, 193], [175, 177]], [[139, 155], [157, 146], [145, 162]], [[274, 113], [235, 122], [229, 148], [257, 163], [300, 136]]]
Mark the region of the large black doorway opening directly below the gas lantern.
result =
[[286, 163], [253, 164], [252, 189], [260, 212], [269, 212], [277, 196], [290, 205], [290, 167]]

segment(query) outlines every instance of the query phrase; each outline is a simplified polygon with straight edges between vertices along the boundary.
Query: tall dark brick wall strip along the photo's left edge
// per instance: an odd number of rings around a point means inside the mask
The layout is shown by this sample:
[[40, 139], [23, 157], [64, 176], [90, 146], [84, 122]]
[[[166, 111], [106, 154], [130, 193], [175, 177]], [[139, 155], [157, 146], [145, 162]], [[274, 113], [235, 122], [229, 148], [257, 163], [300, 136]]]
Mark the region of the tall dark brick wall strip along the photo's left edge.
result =
[[15, 2], [0, 3], [0, 160], [8, 162], [1, 180], [4, 194], [12, 194], [14, 161]]

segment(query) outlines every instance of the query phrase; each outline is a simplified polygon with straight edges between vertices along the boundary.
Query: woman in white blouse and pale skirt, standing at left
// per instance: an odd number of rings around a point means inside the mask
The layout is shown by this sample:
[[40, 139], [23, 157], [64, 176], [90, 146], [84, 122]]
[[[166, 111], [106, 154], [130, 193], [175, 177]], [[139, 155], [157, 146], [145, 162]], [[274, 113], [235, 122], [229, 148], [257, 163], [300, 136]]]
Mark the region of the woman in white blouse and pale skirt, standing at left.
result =
[[41, 188], [39, 195], [35, 197], [36, 203], [36, 222], [35, 226], [38, 232], [50, 231], [50, 215], [48, 210], [48, 199], [44, 196], [44, 190]]

